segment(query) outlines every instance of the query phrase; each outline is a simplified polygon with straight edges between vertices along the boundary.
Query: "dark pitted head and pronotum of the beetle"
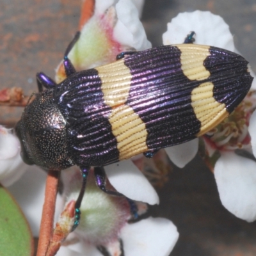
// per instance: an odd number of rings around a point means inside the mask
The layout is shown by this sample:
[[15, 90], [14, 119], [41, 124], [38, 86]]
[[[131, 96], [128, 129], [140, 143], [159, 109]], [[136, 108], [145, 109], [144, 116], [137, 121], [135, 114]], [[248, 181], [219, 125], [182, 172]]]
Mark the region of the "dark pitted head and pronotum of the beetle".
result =
[[51, 170], [73, 165], [68, 157], [66, 120], [52, 99], [52, 90], [39, 93], [26, 106], [15, 132], [25, 163]]

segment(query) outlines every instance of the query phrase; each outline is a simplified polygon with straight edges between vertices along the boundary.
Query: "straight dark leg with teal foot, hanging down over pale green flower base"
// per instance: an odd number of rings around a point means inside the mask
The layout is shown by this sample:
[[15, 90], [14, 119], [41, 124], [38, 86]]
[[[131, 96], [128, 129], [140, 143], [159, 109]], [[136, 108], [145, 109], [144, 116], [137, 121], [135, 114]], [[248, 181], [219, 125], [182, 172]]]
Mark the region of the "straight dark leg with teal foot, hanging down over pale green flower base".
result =
[[84, 191], [85, 191], [85, 187], [86, 187], [86, 180], [90, 171], [90, 166], [86, 166], [86, 167], [81, 167], [81, 174], [83, 177], [83, 183], [82, 183], [82, 187], [79, 193], [79, 196], [76, 200], [76, 214], [75, 214], [75, 221], [74, 221], [74, 226], [72, 228], [72, 231], [74, 231], [76, 229], [76, 227], [79, 225], [79, 220], [80, 220], [80, 215], [81, 215], [81, 211], [80, 211], [80, 207], [81, 207], [81, 202], [83, 200], [83, 196], [84, 196]]

